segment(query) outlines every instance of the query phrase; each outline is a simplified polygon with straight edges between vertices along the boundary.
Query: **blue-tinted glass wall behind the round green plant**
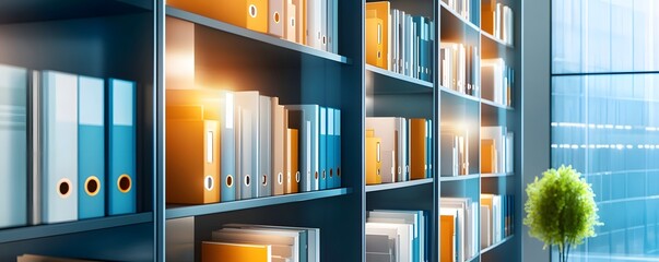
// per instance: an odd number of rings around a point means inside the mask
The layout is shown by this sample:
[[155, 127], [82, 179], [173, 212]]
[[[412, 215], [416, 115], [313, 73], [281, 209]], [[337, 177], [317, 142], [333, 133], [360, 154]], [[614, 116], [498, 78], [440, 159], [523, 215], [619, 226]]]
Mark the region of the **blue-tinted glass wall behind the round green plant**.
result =
[[604, 223], [570, 261], [659, 261], [659, 0], [552, 1], [551, 128]]

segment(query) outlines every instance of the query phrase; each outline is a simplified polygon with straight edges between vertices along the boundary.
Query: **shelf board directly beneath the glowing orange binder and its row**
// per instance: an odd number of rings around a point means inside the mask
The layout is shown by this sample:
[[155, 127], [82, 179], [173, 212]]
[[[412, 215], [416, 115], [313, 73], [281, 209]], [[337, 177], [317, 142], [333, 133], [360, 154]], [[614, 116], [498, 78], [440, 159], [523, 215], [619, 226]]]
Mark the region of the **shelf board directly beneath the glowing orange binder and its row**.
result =
[[275, 196], [268, 196], [268, 198], [238, 200], [238, 201], [215, 203], [215, 204], [179, 205], [179, 206], [170, 205], [170, 207], [167, 207], [166, 217], [167, 217], [167, 219], [173, 219], [173, 218], [180, 218], [180, 217], [188, 217], [188, 216], [209, 215], [209, 214], [247, 210], [247, 209], [268, 206], [268, 205], [276, 205], [276, 204], [285, 204], [285, 203], [316, 200], [316, 199], [332, 198], [332, 196], [349, 194], [351, 192], [352, 192], [351, 189], [340, 188], [340, 189], [319, 190], [319, 191], [313, 191], [313, 192], [275, 195]]

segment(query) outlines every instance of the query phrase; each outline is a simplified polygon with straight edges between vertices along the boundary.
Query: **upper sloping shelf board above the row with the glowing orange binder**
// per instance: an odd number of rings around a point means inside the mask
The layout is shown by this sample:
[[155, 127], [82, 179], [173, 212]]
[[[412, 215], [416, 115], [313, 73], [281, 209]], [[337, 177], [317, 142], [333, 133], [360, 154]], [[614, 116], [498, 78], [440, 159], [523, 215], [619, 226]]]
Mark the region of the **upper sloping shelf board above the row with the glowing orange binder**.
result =
[[297, 43], [280, 39], [274, 36], [266, 35], [266, 34], [262, 34], [259, 32], [255, 32], [255, 31], [250, 31], [250, 29], [243, 28], [239, 26], [235, 26], [235, 25], [224, 23], [224, 22], [221, 22], [217, 20], [209, 19], [209, 17], [205, 17], [205, 16], [202, 16], [202, 15], [199, 15], [196, 13], [191, 13], [188, 11], [184, 11], [184, 10], [180, 10], [177, 8], [167, 5], [167, 8], [165, 10], [166, 10], [165, 11], [166, 14], [172, 17], [186, 20], [186, 21], [199, 24], [199, 25], [210, 27], [210, 28], [214, 28], [217, 31], [222, 31], [222, 32], [226, 32], [230, 34], [245, 37], [245, 38], [249, 38], [249, 39], [252, 39], [256, 41], [263, 43], [264, 45], [275, 46], [275, 47], [280, 47], [280, 48], [295, 51], [298, 53], [306, 53], [306, 55], [323, 58], [323, 59], [340, 62], [340, 63], [348, 63], [348, 64], [352, 63], [351, 59], [343, 57], [343, 56], [339, 56], [337, 53], [331, 53], [331, 52], [318, 50], [316, 48], [311, 48], [308, 46], [299, 45]]

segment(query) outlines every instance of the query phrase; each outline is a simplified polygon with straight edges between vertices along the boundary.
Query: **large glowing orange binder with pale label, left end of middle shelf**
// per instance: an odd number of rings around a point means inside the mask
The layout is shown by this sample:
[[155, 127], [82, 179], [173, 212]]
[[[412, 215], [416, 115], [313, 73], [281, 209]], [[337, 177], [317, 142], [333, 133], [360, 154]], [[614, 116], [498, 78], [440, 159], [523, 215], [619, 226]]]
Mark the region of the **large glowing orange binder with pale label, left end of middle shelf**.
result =
[[167, 107], [167, 203], [220, 202], [220, 121], [203, 109]]

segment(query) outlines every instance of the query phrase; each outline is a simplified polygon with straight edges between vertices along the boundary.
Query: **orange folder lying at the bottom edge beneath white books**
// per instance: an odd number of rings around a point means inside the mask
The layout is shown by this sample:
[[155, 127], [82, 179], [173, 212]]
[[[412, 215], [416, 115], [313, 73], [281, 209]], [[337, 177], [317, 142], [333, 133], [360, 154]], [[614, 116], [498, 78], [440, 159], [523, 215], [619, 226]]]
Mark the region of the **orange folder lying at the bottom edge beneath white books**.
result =
[[270, 262], [272, 246], [225, 242], [201, 242], [202, 262]]

